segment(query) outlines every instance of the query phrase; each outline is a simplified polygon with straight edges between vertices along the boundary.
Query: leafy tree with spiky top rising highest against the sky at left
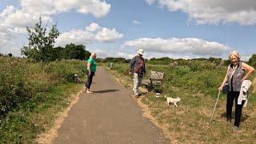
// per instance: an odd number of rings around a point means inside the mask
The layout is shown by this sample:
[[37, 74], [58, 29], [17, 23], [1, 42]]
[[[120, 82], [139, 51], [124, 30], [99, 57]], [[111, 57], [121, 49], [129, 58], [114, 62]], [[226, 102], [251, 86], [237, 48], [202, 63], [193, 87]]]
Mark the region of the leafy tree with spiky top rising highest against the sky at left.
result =
[[42, 19], [35, 23], [34, 28], [26, 27], [28, 32], [28, 46], [23, 46], [22, 54], [27, 58], [34, 58], [37, 61], [50, 62], [56, 59], [54, 55], [54, 43], [59, 32], [57, 25], [53, 25], [47, 33], [47, 26], [42, 26]]

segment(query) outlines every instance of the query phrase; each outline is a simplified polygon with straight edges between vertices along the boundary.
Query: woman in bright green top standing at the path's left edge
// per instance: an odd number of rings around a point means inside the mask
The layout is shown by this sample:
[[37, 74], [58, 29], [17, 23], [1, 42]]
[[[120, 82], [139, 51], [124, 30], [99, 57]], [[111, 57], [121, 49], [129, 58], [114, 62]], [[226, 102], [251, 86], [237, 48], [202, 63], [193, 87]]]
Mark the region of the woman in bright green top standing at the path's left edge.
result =
[[95, 53], [91, 53], [90, 54], [90, 58], [87, 60], [87, 70], [88, 70], [88, 74], [87, 74], [87, 81], [84, 87], [84, 92], [86, 92], [86, 94], [93, 94], [92, 91], [90, 91], [90, 85], [93, 81], [93, 77], [94, 74], [96, 72], [96, 54]]

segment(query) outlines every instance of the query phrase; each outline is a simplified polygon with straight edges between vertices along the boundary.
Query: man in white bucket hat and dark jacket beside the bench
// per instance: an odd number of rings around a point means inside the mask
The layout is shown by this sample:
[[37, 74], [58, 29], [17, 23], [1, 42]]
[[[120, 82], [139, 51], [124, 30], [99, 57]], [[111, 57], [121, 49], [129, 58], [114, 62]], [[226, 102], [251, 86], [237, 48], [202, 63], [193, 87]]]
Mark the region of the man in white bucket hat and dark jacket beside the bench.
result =
[[142, 84], [142, 77], [146, 75], [145, 62], [142, 58], [144, 53], [143, 49], [138, 49], [138, 55], [130, 61], [129, 74], [134, 74], [134, 97], [138, 98], [138, 86]]

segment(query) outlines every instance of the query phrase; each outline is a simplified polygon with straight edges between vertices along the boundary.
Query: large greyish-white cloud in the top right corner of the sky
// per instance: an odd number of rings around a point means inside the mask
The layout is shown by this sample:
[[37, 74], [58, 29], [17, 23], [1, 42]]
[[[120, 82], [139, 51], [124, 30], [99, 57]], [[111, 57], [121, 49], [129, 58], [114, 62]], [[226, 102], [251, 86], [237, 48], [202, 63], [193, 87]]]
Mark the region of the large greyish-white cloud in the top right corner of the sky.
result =
[[[181, 10], [189, 14], [198, 25], [238, 22], [241, 25], [256, 24], [254, 0], [155, 0], [171, 12]], [[154, 1], [146, 0], [149, 4]]]

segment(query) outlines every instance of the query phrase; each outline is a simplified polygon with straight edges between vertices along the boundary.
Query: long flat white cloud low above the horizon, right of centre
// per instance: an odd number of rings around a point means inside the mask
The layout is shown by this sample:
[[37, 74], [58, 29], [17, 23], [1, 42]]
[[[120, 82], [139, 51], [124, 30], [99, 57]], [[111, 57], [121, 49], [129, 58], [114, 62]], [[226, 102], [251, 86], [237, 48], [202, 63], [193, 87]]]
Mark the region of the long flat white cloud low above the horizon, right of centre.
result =
[[124, 46], [143, 48], [149, 52], [198, 56], [221, 56], [231, 50], [230, 46], [218, 42], [207, 42], [198, 38], [139, 38], [125, 42]]

